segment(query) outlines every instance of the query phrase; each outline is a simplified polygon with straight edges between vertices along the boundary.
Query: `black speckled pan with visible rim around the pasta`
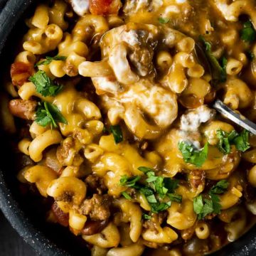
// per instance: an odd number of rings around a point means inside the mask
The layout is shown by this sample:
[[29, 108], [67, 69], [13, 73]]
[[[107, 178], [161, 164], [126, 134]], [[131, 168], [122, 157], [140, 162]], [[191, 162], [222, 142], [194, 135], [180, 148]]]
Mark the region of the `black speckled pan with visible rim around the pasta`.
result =
[[[7, 2], [7, 3], [6, 3]], [[25, 33], [24, 17], [36, 4], [33, 0], [0, 0], [0, 79], [9, 73], [9, 65], [17, 50], [19, 35]], [[2, 10], [1, 10], [2, 8]], [[0, 80], [0, 93], [2, 82]], [[0, 120], [1, 127], [1, 120]], [[67, 228], [49, 225], [37, 207], [37, 198], [21, 196], [16, 180], [11, 137], [0, 130], [0, 207], [22, 238], [43, 256], [90, 255], [82, 242]], [[43, 202], [41, 202], [43, 204]], [[41, 206], [42, 206], [41, 204]], [[0, 227], [1, 228], [1, 227]], [[256, 256], [256, 226], [236, 242], [215, 252], [218, 256]], [[131, 255], [132, 256], [132, 255]]]

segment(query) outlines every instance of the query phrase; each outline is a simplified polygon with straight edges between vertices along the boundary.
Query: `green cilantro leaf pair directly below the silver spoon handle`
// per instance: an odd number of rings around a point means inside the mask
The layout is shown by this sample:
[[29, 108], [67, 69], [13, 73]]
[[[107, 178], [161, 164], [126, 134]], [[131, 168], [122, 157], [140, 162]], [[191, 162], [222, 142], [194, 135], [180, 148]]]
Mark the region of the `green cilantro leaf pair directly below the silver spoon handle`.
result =
[[224, 132], [221, 129], [218, 129], [216, 134], [217, 138], [219, 139], [218, 149], [223, 152], [223, 154], [230, 153], [230, 145], [235, 145], [236, 149], [243, 152], [247, 149], [250, 149], [249, 132], [245, 129], [240, 134], [238, 134], [238, 132], [235, 132], [235, 130], [228, 133]]

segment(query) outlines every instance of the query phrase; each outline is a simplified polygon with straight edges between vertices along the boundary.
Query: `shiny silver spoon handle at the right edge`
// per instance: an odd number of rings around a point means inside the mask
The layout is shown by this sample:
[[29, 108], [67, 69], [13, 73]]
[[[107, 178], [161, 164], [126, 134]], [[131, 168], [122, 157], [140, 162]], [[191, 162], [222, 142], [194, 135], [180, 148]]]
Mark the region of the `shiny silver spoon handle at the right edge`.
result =
[[242, 114], [238, 114], [230, 109], [227, 105], [225, 105], [221, 100], [215, 100], [213, 103], [213, 107], [215, 110], [223, 114], [224, 117], [227, 117], [231, 121], [235, 122], [235, 124], [240, 125], [241, 127], [247, 129], [247, 131], [256, 135], [256, 124], [251, 122], [249, 119], [244, 117]]

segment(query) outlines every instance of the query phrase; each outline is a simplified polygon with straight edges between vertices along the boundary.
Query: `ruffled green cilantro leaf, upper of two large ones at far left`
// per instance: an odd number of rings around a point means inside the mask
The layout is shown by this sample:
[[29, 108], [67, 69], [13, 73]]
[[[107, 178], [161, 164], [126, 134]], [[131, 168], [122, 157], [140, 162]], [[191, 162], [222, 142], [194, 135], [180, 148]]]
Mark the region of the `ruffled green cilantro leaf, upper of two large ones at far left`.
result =
[[33, 76], [28, 78], [36, 86], [36, 92], [44, 97], [55, 96], [63, 89], [63, 85], [55, 85], [43, 70], [38, 70]]

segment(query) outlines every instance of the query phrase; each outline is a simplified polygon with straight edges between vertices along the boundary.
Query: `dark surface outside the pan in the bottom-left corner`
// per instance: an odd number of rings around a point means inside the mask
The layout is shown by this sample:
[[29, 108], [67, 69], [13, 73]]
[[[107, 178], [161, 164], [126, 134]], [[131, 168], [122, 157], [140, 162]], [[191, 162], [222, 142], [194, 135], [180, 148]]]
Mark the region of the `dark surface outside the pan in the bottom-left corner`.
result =
[[0, 255], [1, 256], [37, 256], [33, 249], [23, 242], [0, 210]]

